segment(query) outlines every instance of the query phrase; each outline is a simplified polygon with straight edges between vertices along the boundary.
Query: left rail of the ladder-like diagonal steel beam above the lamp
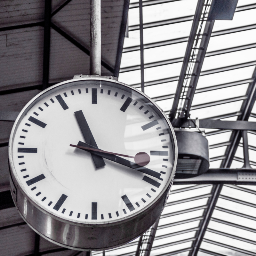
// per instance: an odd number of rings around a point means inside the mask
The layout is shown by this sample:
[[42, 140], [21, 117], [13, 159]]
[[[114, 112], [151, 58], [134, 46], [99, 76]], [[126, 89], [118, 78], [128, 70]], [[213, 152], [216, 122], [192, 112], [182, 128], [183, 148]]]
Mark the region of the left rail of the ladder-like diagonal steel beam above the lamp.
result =
[[200, 17], [201, 17], [202, 11], [203, 11], [203, 7], [204, 7], [204, 0], [198, 0], [197, 6], [196, 6], [195, 17], [194, 17], [194, 20], [192, 23], [192, 27], [191, 27], [191, 31], [190, 31], [190, 35], [189, 35], [189, 39], [188, 39], [188, 45], [186, 48], [185, 57], [183, 60], [181, 71], [180, 71], [180, 77], [179, 77], [179, 81], [178, 81], [178, 85], [177, 85], [177, 89], [176, 89], [176, 93], [175, 93], [175, 98], [174, 98], [174, 101], [172, 104], [171, 112], [169, 114], [169, 118], [171, 121], [175, 118], [176, 111], [177, 111], [177, 108], [179, 105], [180, 95], [182, 92], [182, 87], [183, 87], [186, 71], [188, 68], [189, 58], [190, 58], [190, 55], [192, 52], [192, 47], [193, 47], [193, 44], [195, 41], [197, 28], [200, 23]]

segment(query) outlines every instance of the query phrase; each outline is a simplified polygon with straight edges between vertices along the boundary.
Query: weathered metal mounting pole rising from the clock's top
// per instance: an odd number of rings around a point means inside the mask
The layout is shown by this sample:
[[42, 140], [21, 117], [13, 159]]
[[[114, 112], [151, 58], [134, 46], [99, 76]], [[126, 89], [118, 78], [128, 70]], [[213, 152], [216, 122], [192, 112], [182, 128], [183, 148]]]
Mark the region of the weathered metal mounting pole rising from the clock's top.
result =
[[100, 0], [90, 0], [90, 75], [100, 76]]

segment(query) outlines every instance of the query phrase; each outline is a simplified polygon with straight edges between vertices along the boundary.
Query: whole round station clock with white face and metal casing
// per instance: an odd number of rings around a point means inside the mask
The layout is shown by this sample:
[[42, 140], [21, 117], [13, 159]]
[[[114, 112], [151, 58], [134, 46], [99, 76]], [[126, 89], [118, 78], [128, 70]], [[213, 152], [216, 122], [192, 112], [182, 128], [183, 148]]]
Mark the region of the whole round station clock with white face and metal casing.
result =
[[9, 141], [11, 192], [49, 241], [103, 250], [140, 236], [161, 214], [177, 145], [162, 109], [112, 77], [56, 84], [23, 108]]

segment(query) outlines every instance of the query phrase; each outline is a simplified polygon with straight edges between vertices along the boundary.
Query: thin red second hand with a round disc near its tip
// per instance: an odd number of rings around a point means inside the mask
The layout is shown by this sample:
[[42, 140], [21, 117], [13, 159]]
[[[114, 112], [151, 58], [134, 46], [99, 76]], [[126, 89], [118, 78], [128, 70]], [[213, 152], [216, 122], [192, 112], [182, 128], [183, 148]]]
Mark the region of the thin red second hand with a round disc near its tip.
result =
[[124, 157], [134, 158], [134, 162], [140, 166], [145, 166], [150, 162], [150, 156], [145, 152], [139, 152], [135, 156], [128, 156], [128, 155], [113, 153], [113, 152], [96, 149], [96, 148], [87, 148], [87, 147], [83, 147], [83, 146], [77, 146], [77, 145], [73, 145], [73, 144], [70, 144], [69, 146], [75, 147], [75, 148], [87, 149], [87, 150], [91, 150], [91, 151], [107, 153], [107, 154], [116, 155], [116, 156], [124, 156]]

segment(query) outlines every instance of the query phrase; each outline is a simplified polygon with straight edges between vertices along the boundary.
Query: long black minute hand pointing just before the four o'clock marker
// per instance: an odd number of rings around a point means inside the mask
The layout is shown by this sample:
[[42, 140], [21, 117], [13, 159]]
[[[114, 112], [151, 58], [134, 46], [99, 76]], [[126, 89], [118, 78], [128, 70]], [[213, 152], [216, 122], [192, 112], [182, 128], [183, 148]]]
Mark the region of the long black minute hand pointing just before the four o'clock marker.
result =
[[[82, 141], [79, 141], [77, 146], [82, 146], [82, 147], [86, 147], [86, 148], [96, 148], [96, 147], [93, 147], [92, 145], [89, 145], [89, 144], [84, 143]], [[120, 157], [120, 156], [116, 156], [116, 155], [112, 155], [112, 154], [108, 154], [108, 153], [103, 153], [103, 152], [92, 151], [92, 150], [84, 149], [84, 148], [82, 148], [82, 149], [85, 150], [85, 151], [90, 152], [91, 154], [95, 154], [97, 156], [104, 157], [108, 160], [111, 160], [111, 161], [116, 162], [118, 164], [122, 164], [124, 166], [128, 166], [128, 167], [130, 167], [134, 170], [137, 170], [139, 172], [143, 172], [143, 173], [148, 174], [150, 176], [153, 176], [153, 177], [156, 177], [156, 178], [160, 178], [160, 176], [161, 176], [161, 173], [159, 173], [159, 172], [155, 172], [155, 171], [150, 170], [150, 169], [148, 169], [144, 166], [140, 166], [138, 164], [135, 164], [135, 163], [133, 163], [129, 160], [126, 160], [126, 159]]]

